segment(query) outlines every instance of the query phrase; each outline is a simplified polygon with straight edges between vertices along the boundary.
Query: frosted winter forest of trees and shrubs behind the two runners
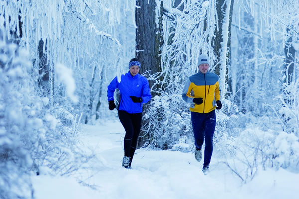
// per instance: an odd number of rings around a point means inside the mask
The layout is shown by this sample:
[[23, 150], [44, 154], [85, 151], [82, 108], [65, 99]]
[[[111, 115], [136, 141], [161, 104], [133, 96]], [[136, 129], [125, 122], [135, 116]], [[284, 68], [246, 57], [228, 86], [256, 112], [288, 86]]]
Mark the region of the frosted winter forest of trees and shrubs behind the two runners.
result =
[[214, 150], [243, 167], [225, 164], [244, 182], [261, 168], [299, 172], [298, 8], [298, 0], [1, 0], [0, 198], [32, 190], [40, 167], [70, 175], [92, 159], [78, 127], [117, 119], [107, 85], [133, 57], [153, 95], [139, 147], [194, 150], [181, 93], [204, 53], [223, 102]]

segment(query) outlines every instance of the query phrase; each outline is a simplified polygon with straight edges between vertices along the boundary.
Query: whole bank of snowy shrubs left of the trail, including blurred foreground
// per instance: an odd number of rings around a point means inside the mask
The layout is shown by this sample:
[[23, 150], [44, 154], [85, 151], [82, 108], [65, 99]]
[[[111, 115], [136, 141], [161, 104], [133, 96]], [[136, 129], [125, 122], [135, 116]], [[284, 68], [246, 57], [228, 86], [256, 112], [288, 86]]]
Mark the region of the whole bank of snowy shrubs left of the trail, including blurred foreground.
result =
[[16, 44], [0, 41], [1, 199], [34, 197], [31, 174], [48, 167], [66, 175], [89, 158], [75, 140], [79, 119], [38, 95], [27, 56]]

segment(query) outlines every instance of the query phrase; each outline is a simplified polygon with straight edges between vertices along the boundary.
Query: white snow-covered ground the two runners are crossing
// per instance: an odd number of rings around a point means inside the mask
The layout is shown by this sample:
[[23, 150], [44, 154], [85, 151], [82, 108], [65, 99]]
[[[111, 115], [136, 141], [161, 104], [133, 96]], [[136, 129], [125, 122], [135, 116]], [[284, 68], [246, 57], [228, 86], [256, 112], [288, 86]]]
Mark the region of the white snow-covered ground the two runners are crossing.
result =
[[[89, 170], [73, 177], [33, 178], [36, 199], [297, 199], [299, 174], [280, 169], [260, 170], [253, 181], [242, 184], [212, 156], [210, 173], [193, 153], [138, 149], [132, 170], [121, 167], [124, 129], [120, 122], [83, 125], [80, 142], [96, 159]], [[85, 185], [85, 186], [84, 186]], [[89, 186], [86, 186], [89, 185]]]

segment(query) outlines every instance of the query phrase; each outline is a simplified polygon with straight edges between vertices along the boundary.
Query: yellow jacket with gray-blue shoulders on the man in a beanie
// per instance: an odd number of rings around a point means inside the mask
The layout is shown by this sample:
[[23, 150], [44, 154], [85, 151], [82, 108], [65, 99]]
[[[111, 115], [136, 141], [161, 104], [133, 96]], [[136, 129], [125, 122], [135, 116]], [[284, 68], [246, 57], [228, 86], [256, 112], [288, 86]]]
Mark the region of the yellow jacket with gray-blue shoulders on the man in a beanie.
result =
[[[190, 110], [198, 113], [208, 113], [216, 109], [216, 101], [220, 100], [219, 77], [215, 73], [200, 71], [190, 76], [183, 90], [183, 100], [190, 103]], [[203, 103], [197, 105], [193, 98], [202, 98]]]

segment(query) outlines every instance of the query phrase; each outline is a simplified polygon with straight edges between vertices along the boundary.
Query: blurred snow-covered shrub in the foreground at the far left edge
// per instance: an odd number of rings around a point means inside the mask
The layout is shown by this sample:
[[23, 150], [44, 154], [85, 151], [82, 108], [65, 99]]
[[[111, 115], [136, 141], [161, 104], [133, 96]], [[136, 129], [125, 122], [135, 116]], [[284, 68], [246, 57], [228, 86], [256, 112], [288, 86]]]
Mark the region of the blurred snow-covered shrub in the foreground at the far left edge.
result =
[[[0, 40], [0, 198], [30, 197], [32, 186], [28, 150], [38, 143], [42, 120], [36, 117], [39, 106], [27, 95], [32, 85], [27, 70], [26, 52], [16, 44]], [[38, 133], [31, 134], [32, 131]]]

